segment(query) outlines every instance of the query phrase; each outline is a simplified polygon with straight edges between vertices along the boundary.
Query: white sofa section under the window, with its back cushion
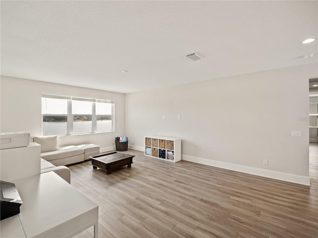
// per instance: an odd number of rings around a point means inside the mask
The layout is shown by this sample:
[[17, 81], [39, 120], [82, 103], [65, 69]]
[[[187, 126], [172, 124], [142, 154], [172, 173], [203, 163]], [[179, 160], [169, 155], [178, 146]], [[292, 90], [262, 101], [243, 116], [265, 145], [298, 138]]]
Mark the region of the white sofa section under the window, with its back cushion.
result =
[[94, 144], [59, 147], [57, 136], [35, 136], [33, 141], [41, 145], [41, 158], [54, 166], [70, 165], [99, 155], [100, 147]]

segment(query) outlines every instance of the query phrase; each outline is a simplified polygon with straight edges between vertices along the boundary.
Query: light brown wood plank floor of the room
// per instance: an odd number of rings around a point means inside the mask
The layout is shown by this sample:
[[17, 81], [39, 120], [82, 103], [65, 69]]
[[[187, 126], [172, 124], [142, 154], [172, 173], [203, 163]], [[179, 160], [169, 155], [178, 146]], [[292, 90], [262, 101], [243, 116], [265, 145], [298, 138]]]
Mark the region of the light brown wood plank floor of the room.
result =
[[128, 153], [132, 168], [110, 175], [69, 166], [71, 184], [99, 205], [99, 238], [318, 237], [318, 179], [304, 186]]

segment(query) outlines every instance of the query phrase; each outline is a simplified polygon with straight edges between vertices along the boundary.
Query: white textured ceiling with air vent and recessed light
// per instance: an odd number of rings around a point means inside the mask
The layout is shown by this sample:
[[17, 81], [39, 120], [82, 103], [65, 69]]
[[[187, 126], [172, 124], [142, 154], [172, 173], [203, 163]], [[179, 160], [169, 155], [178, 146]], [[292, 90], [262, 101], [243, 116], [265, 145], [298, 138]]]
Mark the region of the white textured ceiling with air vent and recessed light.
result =
[[[129, 93], [318, 62], [318, 1], [1, 0], [0, 8], [1, 75]], [[204, 59], [185, 57], [193, 52]]]

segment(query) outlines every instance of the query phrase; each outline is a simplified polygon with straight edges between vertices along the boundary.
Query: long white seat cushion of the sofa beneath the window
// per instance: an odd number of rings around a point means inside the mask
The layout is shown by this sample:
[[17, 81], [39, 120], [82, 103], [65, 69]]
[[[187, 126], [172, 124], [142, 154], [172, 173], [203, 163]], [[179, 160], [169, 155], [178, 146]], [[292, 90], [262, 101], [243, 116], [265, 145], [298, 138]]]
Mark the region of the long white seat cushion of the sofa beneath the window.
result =
[[55, 151], [49, 151], [45, 153], [41, 153], [41, 157], [45, 160], [52, 161], [52, 160], [58, 160], [58, 159], [63, 159], [71, 156], [76, 156], [83, 154], [84, 150], [74, 146], [64, 146], [60, 147], [58, 150]]

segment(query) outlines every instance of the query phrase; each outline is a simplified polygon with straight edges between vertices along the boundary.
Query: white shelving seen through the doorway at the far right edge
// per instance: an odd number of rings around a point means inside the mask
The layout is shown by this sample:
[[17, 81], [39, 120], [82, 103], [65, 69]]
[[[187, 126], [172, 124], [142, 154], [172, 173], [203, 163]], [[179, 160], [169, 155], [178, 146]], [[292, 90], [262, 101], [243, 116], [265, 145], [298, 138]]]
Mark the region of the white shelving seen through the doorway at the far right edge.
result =
[[309, 95], [309, 136], [311, 142], [318, 142], [318, 94]]

